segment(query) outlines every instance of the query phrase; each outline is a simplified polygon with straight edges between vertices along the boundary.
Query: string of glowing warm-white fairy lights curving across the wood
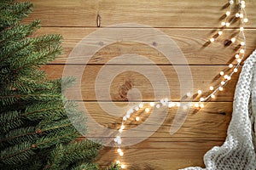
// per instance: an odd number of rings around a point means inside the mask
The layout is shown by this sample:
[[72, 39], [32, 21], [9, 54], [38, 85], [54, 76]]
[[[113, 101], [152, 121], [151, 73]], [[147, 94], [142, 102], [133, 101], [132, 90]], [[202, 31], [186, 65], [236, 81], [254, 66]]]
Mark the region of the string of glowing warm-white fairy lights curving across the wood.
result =
[[[208, 93], [208, 95], [203, 98], [201, 97], [199, 99], [198, 102], [194, 102], [194, 104], [189, 104], [189, 105], [181, 105], [180, 102], [172, 102], [169, 99], [160, 99], [160, 101], [158, 102], [143, 102], [140, 103], [138, 105], [133, 106], [129, 111], [126, 111], [125, 116], [123, 116], [123, 120], [121, 123], [121, 126], [119, 127], [119, 133], [116, 136], [116, 138], [114, 138], [114, 142], [117, 144], [117, 161], [116, 163], [119, 164], [119, 166], [122, 169], [125, 169], [127, 167], [127, 165], [125, 165], [125, 163], [122, 161], [122, 157], [125, 155], [124, 151], [121, 149], [122, 146], [122, 133], [125, 130], [125, 122], [129, 119], [131, 119], [132, 115], [135, 115], [135, 113], [137, 113], [137, 111], [143, 111], [145, 113], [149, 113], [149, 111], [152, 111], [154, 108], [159, 109], [161, 106], [165, 106], [165, 107], [180, 107], [182, 106], [183, 109], [188, 109], [191, 106], [194, 106], [195, 108], [203, 108], [204, 107], [204, 103], [207, 102], [210, 99], [214, 99], [215, 95], [219, 92], [219, 91], [223, 91], [224, 90], [224, 86], [227, 84], [227, 82], [230, 81], [231, 77], [238, 71], [238, 67], [241, 65], [241, 61], [242, 59], [244, 59], [245, 57], [245, 52], [246, 52], [246, 37], [244, 34], [244, 25], [245, 23], [248, 22], [247, 19], [247, 13], [245, 10], [246, 7], [246, 3], [244, 0], [238, 0], [238, 12], [236, 14], [234, 14], [234, 17], [231, 17], [231, 12], [232, 12], [232, 8], [234, 8], [234, 6], [236, 5], [234, 0], [230, 0], [230, 8], [228, 11], [226, 11], [225, 13], [225, 18], [224, 21], [221, 22], [221, 28], [218, 30], [218, 34], [217, 37], [211, 37], [208, 42], [212, 43], [214, 42], [218, 37], [223, 35], [223, 30], [227, 27], [230, 27], [232, 25], [232, 23], [234, 23], [236, 20], [240, 20], [240, 27], [239, 27], [239, 33], [236, 34], [235, 37], [231, 37], [230, 38], [230, 43], [237, 43], [237, 45], [240, 46], [240, 48], [238, 49], [238, 52], [235, 54], [235, 60], [233, 62], [236, 62], [236, 65], [232, 62], [230, 63], [228, 70], [226, 71], [220, 71], [219, 75], [220, 77], [222, 77], [222, 81], [218, 84], [218, 86], [214, 87], [214, 86], [210, 86], [209, 87], [209, 91], [210, 93]], [[199, 89], [197, 91], [197, 95], [201, 96], [203, 94], [203, 92], [201, 91], [201, 89]], [[187, 93], [186, 94], [188, 97], [190, 97], [192, 94], [191, 93]], [[140, 121], [141, 117], [140, 116], [136, 116], [135, 117], [135, 121]]]

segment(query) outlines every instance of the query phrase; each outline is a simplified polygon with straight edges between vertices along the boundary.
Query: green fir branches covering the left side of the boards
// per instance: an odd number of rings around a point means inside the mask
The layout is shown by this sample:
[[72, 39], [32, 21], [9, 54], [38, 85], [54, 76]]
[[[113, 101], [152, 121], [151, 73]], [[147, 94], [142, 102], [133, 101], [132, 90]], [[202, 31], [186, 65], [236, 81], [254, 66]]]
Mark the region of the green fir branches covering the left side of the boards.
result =
[[[98, 169], [102, 145], [75, 140], [80, 134], [73, 122], [84, 127], [85, 120], [61, 95], [61, 83], [68, 87], [73, 79], [48, 80], [38, 70], [61, 54], [62, 37], [32, 36], [39, 20], [20, 22], [32, 3], [1, 0], [0, 9], [0, 169]], [[68, 119], [67, 111], [75, 118]]]

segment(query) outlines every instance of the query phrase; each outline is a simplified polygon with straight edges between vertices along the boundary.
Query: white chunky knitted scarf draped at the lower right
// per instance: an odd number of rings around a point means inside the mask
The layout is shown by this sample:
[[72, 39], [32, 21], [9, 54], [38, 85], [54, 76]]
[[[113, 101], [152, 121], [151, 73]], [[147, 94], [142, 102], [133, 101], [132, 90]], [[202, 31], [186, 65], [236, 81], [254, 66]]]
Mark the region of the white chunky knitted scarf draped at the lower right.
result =
[[204, 156], [206, 168], [183, 170], [255, 170], [256, 169], [256, 50], [245, 61], [233, 103], [227, 138]]

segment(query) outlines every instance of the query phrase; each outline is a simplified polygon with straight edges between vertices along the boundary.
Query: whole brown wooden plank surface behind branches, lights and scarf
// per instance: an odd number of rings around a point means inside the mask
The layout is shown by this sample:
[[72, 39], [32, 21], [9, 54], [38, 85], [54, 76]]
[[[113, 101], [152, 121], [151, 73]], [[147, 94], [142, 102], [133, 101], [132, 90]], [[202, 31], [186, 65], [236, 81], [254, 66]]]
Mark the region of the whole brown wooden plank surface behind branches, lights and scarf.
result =
[[[224, 35], [216, 42], [204, 46], [207, 39], [214, 35], [221, 20], [224, 19], [229, 1], [215, 0], [32, 0], [34, 12], [25, 22], [39, 19], [42, 28], [36, 35], [49, 33], [61, 34], [64, 37], [62, 46], [63, 54], [59, 59], [45, 65], [43, 69], [49, 74], [49, 78], [62, 76], [62, 71], [76, 44], [91, 32], [96, 31], [97, 15], [101, 19], [101, 27], [122, 23], [137, 23], [153, 26], [171, 37], [188, 59], [188, 64], [194, 80], [195, 90], [207, 91], [210, 85], [216, 86], [220, 81], [218, 72], [227, 68], [236, 54], [237, 43], [229, 47], [224, 46], [224, 41], [236, 35], [238, 22], [224, 31]], [[245, 26], [247, 36], [246, 56], [255, 48], [256, 41], [256, 1], [247, 0], [247, 17], [249, 22]], [[137, 29], [137, 28], [134, 28]], [[150, 36], [150, 35], [148, 35]], [[97, 73], [109, 59], [120, 54], [140, 54], [151, 59], [159, 65], [169, 82], [172, 100], [178, 101], [179, 82], [177, 74], [165, 56], [153, 48], [137, 42], [116, 42], [98, 51], [89, 61], [83, 75], [82, 101], [97, 122], [104, 127], [119, 127], [120, 117], [109, 116], [102, 111], [96, 101], [94, 85]], [[131, 65], [137, 65], [137, 61]], [[184, 63], [177, 66], [182, 68]], [[83, 65], [78, 59], [72, 60], [73, 69], [78, 71]], [[119, 61], [117, 65], [108, 65], [109, 68], [129, 66]], [[145, 69], [152, 65], [140, 65]], [[240, 72], [240, 71], [239, 71]], [[230, 83], [224, 88], [224, 92], [217, 98], [207, 103], [200, 111], [191, 111], [186, 122], [177, 133], [172, 136], [169, 129], [175, 110], [170, 110], [162, 126], [148, 139], [140, 144], [126, 147], [124, 161], [127, 169], [178, 169], [190, 166], [204, 167], [203, 156], [215, 145], [221, 145], [226, 137], [226, 130], [232, 113], [232, 99], [239, 72], [232, 77]], [[160, 81], [160, 80], [159, 80]], [[115, 102], [116, 105], [126, 105], [127, 98], [122, 93], [122, 87], [130, 84], [131, 88], [141, 91], [144, 101], [152, 101], [154, 92], [152, 85], [143, 75], [134, 72], [124, 72], [114, 78], [111, 84], [111, 100], [102, 96], [101, 102]], [[104, 84], [101, 85], [104, 88]], [[76, 87], [73, 88], [74, 90]], [[76, 98], [73, 98], [76, 99]], [[196, 98], [198, 99], [198, 98]], [[124, 111], [125, 112], [125, 111]], [[146, 119], [146, 117], [143, 117]], [[131, 124], [131, 127], [136, 126]], [[154, 126], [154, 125], [153, 125]], [[129, 126], [128, 126], [129, 127]], [[143, 132], [142, 132], [143, 133]], [[97, 162], [105, 167], [111, 161], [115, 161], [117, 153], [113, 148], [106, 147], [101, 151]]]

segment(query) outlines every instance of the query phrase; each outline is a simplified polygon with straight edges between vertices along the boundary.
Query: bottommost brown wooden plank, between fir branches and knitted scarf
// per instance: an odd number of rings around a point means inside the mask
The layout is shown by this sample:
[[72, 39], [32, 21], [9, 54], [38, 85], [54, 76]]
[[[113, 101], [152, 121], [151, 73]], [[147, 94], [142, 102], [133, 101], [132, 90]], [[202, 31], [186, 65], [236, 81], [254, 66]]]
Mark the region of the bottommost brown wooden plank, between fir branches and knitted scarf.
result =
[[[200, 147], [200, 146], [199, 146]], [[211, 148], [209, 148], [211, 149]], [[184, 167], [204, 167], [203, 156], [209, 150], [185, 151], [169, 149], [127, 149], [123, 156], [127, 169], [170, 169], [176, 170]], [[116, 161], [117, 154], [113, 149], [106, 148], [99, 154], [98, 163], [109, 165]]]

